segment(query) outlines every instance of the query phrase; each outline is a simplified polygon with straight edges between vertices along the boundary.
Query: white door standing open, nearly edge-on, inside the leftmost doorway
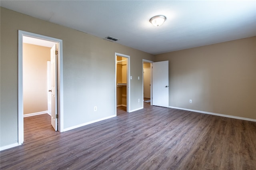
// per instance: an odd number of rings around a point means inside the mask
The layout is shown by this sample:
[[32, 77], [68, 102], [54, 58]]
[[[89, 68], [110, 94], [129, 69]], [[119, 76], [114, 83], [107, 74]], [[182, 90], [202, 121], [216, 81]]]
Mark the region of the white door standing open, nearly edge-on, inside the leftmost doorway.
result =
[[52, 127], [54, 128], [55, 131], [58, 130], [58, 119], [56, 118], [56, 115], [58, 115], [58, 95], [57, 95], [57, 82], [58, 82], [58, 77], [57, 74], [57, 68], [56, 68], [56, 63], [58, 56], [55, 53], [56, 47], [55, 45], [51, 48], [51, 79], [52, 79]]

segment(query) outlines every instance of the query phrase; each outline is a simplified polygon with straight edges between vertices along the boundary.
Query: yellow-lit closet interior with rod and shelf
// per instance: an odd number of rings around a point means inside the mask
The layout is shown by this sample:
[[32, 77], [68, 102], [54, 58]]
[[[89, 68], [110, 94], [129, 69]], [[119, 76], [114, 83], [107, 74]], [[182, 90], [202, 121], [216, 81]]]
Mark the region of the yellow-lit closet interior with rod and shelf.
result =
[[116, 63], [116, 106], [127, 105], [127, 58], [117, 56]]

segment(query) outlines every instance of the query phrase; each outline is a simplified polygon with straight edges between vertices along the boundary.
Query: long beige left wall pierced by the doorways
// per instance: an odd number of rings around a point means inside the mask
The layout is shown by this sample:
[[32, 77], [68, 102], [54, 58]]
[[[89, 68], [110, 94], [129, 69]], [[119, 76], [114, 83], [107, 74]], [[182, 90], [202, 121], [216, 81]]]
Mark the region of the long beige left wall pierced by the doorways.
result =
[[[18, 30], [63, 42], [64, 129], [115, 115], [115, 52], [130, 56], [133, 77], [142, 77], [142, 59], [154, 61], [154, 55], [118, 43], [6, 8], [0, 12], [1, 147], [18, 141]], [[143, 107], [142, 79], [131, 80], [130, 93], [131, 110]]]

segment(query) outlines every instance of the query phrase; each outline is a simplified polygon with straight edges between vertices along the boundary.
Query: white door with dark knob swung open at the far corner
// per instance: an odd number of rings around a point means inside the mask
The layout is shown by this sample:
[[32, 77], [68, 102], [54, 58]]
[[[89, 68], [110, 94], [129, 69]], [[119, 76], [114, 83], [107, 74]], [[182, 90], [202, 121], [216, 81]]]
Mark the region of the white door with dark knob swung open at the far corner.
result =
[[169, 61], [152, 65], [152, 105], [169, 107]]

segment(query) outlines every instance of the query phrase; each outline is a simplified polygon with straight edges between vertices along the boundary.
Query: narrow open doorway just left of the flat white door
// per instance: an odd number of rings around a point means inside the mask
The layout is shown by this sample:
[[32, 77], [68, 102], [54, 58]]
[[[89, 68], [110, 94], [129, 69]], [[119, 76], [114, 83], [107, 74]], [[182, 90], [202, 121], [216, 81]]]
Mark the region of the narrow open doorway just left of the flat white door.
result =
[[152, 62], [143, 59], [143, 100], [152, 105]]

